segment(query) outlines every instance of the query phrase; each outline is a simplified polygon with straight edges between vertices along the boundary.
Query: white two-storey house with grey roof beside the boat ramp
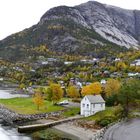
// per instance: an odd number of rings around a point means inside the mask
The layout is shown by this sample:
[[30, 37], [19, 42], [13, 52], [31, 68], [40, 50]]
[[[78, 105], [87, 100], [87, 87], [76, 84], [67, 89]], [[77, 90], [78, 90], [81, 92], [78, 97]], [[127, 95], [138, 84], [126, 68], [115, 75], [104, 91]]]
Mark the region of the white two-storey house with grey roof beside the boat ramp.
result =
[[105, 110], [105, 101], [101, 95], [87, 95], [81, 100], [81, 115], [87, 117]]

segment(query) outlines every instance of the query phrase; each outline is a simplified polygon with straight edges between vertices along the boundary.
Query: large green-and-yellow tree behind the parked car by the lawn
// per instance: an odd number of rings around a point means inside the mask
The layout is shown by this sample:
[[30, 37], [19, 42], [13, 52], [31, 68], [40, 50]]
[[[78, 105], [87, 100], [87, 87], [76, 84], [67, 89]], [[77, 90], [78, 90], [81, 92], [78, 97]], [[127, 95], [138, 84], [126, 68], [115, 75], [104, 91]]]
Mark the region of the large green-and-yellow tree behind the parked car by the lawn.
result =
[[63, 89], [59, 84], [50, 84], [47, 89], [47, 98], [56, 104], [63, 97]]

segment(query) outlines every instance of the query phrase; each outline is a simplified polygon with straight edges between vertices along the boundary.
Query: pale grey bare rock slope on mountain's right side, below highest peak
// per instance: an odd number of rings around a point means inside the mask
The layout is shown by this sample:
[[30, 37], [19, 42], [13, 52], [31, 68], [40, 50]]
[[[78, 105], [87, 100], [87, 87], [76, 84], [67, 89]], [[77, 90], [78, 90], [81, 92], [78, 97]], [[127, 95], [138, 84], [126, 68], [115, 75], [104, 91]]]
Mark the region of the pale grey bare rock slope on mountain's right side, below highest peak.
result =
[[77, 7], [97, 33], [105, 39], [127, 48], [137, 47], [140, 36], [140, 11], [125, 10], [88, 2]]

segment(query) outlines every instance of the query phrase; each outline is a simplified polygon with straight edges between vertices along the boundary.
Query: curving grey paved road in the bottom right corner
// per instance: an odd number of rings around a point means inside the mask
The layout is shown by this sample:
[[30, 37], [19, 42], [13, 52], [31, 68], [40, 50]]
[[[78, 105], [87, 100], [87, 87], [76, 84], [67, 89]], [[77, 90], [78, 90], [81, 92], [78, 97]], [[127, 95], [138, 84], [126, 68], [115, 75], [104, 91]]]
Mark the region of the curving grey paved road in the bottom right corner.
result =
[[116, 124], [110, 127], [103, 140], [139, 140], [140, 119], [132, 119], [128, 122]]

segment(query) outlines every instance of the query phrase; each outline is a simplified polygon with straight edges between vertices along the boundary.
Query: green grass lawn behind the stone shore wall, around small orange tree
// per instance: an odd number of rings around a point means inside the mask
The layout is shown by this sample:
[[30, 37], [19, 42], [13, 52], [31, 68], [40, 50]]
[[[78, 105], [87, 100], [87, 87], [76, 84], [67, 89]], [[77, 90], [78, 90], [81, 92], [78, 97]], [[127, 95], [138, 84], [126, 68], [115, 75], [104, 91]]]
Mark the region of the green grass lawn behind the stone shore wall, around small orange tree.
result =
[[40, 110], [38, 111], [32, 98], [0, 99], [0, 104], [3, 104], [9, 109], [21, 114], [45, 113], [64, 109], [61, 106], [53, 105], [52, 102], [45, 100], [44, 105], [41, 106]]

